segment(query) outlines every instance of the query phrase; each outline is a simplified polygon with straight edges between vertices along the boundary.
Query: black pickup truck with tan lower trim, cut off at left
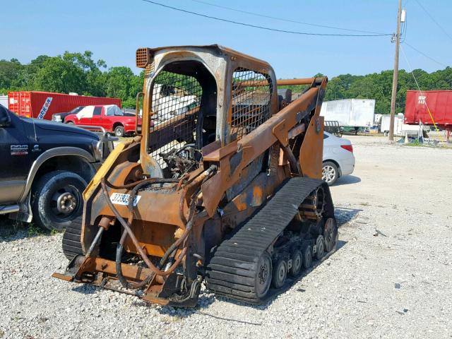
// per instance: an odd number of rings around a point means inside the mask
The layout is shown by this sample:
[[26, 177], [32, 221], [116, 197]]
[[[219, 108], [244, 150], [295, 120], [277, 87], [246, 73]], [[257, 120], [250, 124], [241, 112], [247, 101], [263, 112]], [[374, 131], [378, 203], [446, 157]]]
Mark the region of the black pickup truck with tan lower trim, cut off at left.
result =
[[18, 117], [0, 105], [0, 214], [64, 229], [81, 215], [82, 192], [111, 149], [106, 134]]

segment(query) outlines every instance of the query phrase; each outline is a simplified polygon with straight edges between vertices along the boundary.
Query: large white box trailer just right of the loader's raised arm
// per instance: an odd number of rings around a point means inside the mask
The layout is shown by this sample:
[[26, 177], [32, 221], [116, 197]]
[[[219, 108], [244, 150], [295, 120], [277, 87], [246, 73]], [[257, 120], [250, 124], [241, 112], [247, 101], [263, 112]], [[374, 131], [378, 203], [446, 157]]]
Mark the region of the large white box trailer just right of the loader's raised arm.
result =
[[344, 99], [325, 101], [320, 115], [325, 120], [339, 121], [340, 126], [368, 127], [374, 124], [374, 99]]

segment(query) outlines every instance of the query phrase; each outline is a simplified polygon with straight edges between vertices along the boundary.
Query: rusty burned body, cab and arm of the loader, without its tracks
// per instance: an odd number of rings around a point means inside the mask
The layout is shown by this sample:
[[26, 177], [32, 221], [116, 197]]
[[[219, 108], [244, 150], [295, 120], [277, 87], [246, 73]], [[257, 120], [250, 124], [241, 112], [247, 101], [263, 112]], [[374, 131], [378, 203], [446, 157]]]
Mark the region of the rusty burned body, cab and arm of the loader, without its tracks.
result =
[[[141, 136], [88, 185], [83, 251], [52, 276], [192, 307], [225, 235], [287, 178], [319, 177], [327, 78], [278, 80], [266, 61], [219, 45], [140, 48], [136, 66], [145, 69]], [[307, 88], [280, 105], [278, 85]], [[319, 217], [302, 208], [299, 218]]]

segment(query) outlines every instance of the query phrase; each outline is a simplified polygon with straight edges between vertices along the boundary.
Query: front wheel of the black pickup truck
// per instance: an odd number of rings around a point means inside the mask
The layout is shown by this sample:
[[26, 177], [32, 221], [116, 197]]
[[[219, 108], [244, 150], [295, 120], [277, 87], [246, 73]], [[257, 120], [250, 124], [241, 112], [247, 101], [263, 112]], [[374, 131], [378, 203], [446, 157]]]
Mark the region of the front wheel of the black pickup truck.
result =
[[85, 180], [78, 174], [54, 171], [43, 175], [32, 196], [35, 223], [47, 230], [64, 230], [82, 214]]

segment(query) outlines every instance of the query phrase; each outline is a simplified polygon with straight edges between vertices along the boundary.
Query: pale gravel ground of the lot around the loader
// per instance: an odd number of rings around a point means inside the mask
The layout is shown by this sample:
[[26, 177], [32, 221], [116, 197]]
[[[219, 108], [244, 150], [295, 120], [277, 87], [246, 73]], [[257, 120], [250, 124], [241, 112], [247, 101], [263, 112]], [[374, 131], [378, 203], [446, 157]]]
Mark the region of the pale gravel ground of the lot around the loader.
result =
[[[333, 186], [340, 249], [267, 304], [196, 309], [50, 278], [61, 234], [0, 238], [0, 338], [452, 338], [452, 150], [349, 137]], [[6, 226], [5, 226], [6, 227]]]

